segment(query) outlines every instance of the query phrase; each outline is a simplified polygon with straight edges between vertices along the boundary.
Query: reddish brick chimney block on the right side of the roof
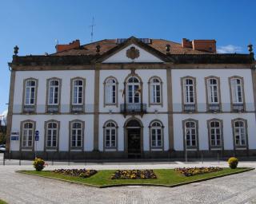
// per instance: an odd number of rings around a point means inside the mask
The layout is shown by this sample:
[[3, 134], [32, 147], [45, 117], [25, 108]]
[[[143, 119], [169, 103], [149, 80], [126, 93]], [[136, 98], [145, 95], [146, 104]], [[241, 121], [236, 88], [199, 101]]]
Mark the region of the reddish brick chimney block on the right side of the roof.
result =
[[215, 40], [193, 40], [190, 41], [186, 38], [182, 38], [183, 48], [192, 48], [203, 52], [216, 53], [216, 41]]

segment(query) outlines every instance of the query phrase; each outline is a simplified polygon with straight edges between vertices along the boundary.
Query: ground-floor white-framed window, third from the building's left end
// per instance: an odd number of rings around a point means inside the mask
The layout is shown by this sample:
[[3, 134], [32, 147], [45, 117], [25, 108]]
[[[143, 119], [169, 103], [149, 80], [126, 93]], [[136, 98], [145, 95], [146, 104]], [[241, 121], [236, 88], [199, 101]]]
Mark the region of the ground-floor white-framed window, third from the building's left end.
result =
[[71, 128], [71, 147], [82, 147], [82, 123], [73, 122]]

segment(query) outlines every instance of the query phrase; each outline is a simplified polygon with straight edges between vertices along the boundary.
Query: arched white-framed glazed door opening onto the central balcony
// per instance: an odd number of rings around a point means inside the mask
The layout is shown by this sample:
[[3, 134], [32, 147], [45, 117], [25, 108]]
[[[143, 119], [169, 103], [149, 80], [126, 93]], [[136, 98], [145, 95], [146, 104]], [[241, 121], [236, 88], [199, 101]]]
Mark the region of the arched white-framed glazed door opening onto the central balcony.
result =
[[127, 82], [127, 102], [128, 104], [139, 104], [141, 101], [142, 88], [137, 77], [130, 77]]

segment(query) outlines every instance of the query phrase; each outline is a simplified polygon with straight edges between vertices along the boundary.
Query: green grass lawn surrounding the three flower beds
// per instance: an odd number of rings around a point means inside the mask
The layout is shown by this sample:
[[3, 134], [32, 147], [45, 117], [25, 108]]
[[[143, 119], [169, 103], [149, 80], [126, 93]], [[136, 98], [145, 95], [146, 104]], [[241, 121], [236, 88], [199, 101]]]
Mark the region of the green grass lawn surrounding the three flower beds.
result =
[[207, 173], [203, 175], [194, 175], [186, 177], [174, 169], [159, 169], [154, 170], [154, 173], [157, 175], [158, 179], [110, 179], [110, 176], [114, 174], [114, 170], [102, 170], [98, 171], [97, 174], [92, 175], [90, 178], [82, 179], [79, 177], [74, 177], [70, 175], [61, 175], [56, 174], [51, 171], [18, 171], [20, 173], [25, 173], [29, 175], [38, 175], [50, 179], [61, 179], [69, 182], [79, 182], [81, 184], [90, 185], [90, 186], [113, 186], [113, 185], [162, 185], [162, 186], [178, 186], [184, 182], [197, 182], [202, 179], [212, 179], [215, 177], [220, 177], [223, 175], [236, 174], [238, 172], [250, 170], [250, 168], [223, 168], [222, 171]]

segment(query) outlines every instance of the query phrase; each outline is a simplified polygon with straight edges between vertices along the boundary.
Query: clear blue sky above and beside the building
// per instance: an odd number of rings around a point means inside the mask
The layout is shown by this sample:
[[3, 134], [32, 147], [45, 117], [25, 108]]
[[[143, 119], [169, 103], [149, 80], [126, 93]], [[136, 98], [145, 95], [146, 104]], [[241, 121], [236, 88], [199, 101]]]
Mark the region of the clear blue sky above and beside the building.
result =
[[247, 53], [256, 49], [256, 1], [235, 0], [1, 0], [0, 2], [0, 115], [7, 109], [14, 45], [19, 55], [54, 53], [59, 44], [80, 39], [90, 42], [117, 37], [182, 37], [216, 39], [220, 52]]

